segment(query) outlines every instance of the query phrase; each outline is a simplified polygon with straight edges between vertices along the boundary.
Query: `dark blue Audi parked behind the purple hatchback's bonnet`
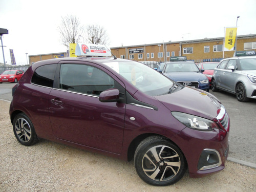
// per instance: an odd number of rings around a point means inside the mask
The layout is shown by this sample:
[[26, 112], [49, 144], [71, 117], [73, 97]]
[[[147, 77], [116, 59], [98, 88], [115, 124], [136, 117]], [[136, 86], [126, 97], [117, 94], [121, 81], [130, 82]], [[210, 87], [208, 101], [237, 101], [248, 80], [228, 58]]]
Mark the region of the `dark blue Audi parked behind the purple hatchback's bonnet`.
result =
[[166, 62], [162, 73], [184, 86], [189, 86], [209, 92], [209, 80], [202, 74], [193, 61]]

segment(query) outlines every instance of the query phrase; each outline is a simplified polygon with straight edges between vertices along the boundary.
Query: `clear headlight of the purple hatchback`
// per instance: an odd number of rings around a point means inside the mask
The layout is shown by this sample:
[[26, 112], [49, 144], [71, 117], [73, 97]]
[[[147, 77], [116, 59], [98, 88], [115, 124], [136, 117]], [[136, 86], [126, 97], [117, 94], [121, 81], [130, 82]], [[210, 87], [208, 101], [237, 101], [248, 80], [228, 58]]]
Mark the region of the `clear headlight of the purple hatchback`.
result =
[[173, 116], [178, 119], [185, 126], [200, 130], [200, 131], [212, 131], [213, 129], [219, 129], [216, 122], [195, 115], [190, 115], [181, 112], [172, 112]]

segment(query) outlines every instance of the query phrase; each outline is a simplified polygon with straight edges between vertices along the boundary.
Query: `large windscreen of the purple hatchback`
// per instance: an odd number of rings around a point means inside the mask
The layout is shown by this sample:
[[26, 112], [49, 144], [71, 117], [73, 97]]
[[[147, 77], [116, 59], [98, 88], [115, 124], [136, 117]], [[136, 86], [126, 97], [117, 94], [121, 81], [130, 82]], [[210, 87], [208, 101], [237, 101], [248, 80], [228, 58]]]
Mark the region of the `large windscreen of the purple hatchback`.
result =
[[136, 88], [147, 95], [157, 96], [167, 94], [173, 81], [156, 70], [135, 61], [104, 62]]

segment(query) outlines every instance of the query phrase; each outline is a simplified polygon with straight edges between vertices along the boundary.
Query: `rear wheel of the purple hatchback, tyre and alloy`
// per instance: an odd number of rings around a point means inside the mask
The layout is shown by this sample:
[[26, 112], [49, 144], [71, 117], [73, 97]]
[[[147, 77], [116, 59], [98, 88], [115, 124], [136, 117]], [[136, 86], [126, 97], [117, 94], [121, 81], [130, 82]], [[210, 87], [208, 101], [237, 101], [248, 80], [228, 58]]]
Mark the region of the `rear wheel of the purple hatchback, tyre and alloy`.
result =
[[25, 113], [16, 115], [12, 126], [14, 135], [20, 144], [30, 146], [38, 141], [34, 126]]

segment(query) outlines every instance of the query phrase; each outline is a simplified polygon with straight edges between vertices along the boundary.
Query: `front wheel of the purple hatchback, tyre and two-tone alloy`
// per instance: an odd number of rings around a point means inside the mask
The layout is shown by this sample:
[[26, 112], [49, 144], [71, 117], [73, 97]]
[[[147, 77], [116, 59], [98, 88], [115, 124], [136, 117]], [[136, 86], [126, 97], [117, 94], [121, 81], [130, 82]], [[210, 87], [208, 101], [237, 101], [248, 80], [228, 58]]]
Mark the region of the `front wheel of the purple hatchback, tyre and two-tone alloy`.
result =
[[176, 183], [186, 170], [180, 148], [161, 136], [148, 137], [138, 145], [134, 164], [143, 181], [158, 186]]

